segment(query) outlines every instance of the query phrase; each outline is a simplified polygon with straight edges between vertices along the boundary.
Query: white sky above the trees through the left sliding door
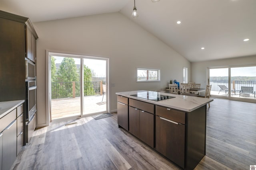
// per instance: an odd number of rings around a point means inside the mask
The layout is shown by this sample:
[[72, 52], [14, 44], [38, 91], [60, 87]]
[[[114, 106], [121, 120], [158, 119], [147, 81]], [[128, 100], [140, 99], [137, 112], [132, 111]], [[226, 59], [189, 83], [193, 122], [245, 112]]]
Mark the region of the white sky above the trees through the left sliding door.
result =
[[[61, 63], [64, 57], [54, 56], [55, 63]], [[76, 64], [80, 64], [80, 58], [73, 58]], [[84, 64], [95, 72], [96, 77], [106, 77], [106, 61], [97, 59], [84, 59]]]

